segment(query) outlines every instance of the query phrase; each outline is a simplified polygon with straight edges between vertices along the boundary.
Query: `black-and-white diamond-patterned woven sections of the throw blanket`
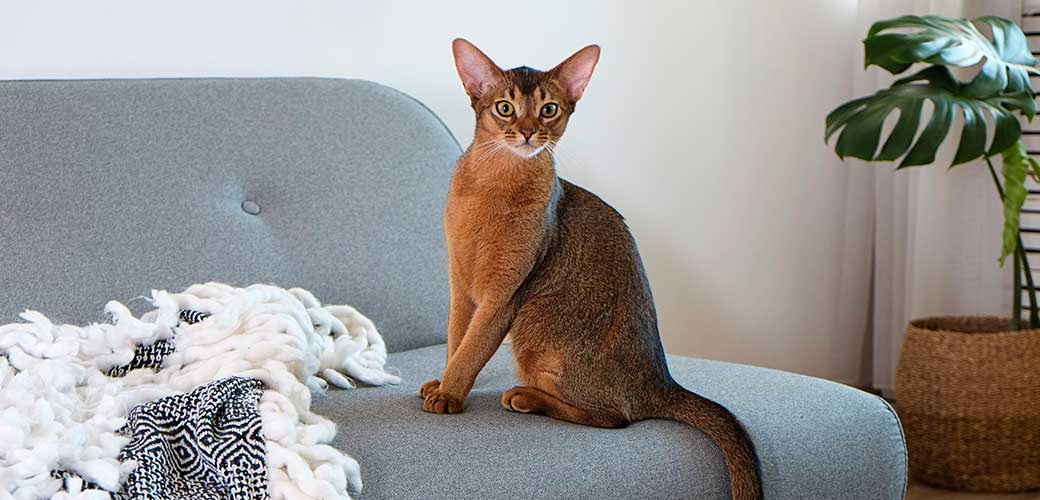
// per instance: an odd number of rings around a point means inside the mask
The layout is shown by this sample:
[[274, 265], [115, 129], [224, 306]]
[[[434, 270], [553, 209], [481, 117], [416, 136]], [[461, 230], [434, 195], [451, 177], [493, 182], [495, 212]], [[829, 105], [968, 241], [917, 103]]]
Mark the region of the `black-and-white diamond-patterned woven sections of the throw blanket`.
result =
[[[180, 311], [182, 323], [209, 317], [198, 311]], [[175, 349], [175, 339], [138, 345], [133, 360], [110, 369], [110, 376], [149, 368], [159, 371]], [[265, 500], [266, 446], [258, 402], [260, 380], [232, 376], [196, 388], [187, 394], [164, 397], [130, 411], [123, 431], [130, 444], [121, 460], [133, 459], [137, 468], [123, 490], [110, 492], [114, 500]], [[69, 471], [54, 471], [68, 488], [80, 478]], [[84, 481], [87, 489], [98, 489]]]

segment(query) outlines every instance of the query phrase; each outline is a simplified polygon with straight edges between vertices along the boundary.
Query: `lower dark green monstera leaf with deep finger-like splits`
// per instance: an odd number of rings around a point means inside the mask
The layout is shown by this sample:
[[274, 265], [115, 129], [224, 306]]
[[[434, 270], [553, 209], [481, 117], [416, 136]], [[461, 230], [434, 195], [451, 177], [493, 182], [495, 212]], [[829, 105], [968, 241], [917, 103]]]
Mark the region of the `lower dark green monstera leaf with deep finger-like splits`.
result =
[[[1036, 113], [1032, 91], [998, 94], [979, 98], [954, 79], [950, 70], [933, 65], [898, 80], [891, 87], [851, 101], [827, 115], [824, 140], [830, 141], [838, 130], [834, 147], [839, 157], [851, 156], [866, 161], [892, 161], [903, 157], [899, 167], [925, 165], [935, 161], [936, 152], [946, 137], [958, 113], [964, 119], [960, 143], [953, 164], [998, 154], [1018, 141], [1021, 128], [1015, 111], [1029, 116]], [[932, 103], [925, 130], [917, 135], [925, 103]], [[892, 112], [899, 112], [892, 131], [881, 151], [882, 126]], [[987, 128], [994, 133], [986, 147]], [[916, 140], [915, 140], [916, 137]], [[904, 156], [904, 154], [906, 156]]]

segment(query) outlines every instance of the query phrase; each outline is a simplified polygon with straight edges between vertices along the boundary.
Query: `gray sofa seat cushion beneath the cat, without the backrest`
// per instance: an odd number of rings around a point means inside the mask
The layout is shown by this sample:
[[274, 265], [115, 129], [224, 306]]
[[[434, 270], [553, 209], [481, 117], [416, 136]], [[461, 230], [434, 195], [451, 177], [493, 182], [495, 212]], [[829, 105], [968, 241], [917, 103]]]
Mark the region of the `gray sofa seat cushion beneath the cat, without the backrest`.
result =
[[[508, 347], [477, 378], [465, 412], [422, 413], [417, 392], [444, 368], [443, 345], [399, 352], [398, 387], [330, 391], [315, 411], [362, 467], [370, 499], [728, 500], [718, 448], [671, 421], [597, 429], [506, 412]], [[729, 407], [758, 449], [766, 500], [889, 500], [906, 489], [906, 452], [882, 399], [791, 373], [670, 357], [677, 380]]]

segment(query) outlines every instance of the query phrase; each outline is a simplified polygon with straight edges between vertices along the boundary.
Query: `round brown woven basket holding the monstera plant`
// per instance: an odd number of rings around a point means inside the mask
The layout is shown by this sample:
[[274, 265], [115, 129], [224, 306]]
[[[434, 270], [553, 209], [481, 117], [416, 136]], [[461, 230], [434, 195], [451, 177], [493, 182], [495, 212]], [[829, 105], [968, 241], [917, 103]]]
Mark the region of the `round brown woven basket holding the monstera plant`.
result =
[[911, 321], [895, 373], [910, 474], [971, 492], [1040, 488], [1040, 331], [1007, 319]]

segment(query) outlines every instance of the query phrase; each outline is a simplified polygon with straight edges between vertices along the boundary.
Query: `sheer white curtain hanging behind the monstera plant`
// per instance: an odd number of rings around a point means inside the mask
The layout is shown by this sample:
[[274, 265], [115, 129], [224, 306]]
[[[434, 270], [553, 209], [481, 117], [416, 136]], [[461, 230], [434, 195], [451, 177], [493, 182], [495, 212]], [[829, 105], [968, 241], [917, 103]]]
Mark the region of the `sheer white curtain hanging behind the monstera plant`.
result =
[[[863, 0], [859, 2], [859, 33], [865, 34], [875, 21], [905, 14], [996, 15], [1018, 21], [1021, 7], [1020, 0]], [[862, 47], [855, 71], [856, 96], [873, 94], [892, 80], [877, 67], [862, 70]], [[985, 163], [947, 170], [955, 149], [956, 140], [950, 139], [936, 164], [903, 172], [888, 164], [852, 165], [857, 173], [850, 177], [848, 200], [862, 200], [866, 191], [865, 198], [874, 201], [874, 293], [867, 326], [873, 352], [867, 356], [873, 358], [873, 385], [886, 394], [894, 388], [903, 334], [910, 319], [1010, 314], [1010, 270], [996, 262], [1000, 203]], [[862, 258], [846, 262], [852, 268], [862, 266]]]

